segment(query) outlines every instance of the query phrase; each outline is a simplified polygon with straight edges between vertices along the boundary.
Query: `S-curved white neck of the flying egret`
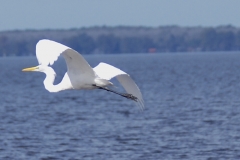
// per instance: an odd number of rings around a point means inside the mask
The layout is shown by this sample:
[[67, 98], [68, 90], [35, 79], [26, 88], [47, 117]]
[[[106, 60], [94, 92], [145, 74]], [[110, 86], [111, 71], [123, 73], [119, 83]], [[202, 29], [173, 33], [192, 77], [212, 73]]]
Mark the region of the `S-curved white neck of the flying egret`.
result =
[[48, 90], [49, 92], [61, 91], [62, 87], [59, 84], [58, 85], [53, 84], [56, 77], [56, 73], [54, 72], [54, 70], [51, 67], [49, 67], [44, 73], [46, 74], [46, 78], [43, 81], [45, 89]]

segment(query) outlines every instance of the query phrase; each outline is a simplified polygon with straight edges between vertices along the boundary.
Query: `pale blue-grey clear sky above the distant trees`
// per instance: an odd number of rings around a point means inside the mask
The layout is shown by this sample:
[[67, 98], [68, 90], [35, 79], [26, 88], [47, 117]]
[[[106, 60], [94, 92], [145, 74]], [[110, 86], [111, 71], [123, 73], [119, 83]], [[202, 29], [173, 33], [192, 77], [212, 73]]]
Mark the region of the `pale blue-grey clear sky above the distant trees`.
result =
[[240, 27], [239, 0], [0, 0], [0, 31], [229, 24]]

